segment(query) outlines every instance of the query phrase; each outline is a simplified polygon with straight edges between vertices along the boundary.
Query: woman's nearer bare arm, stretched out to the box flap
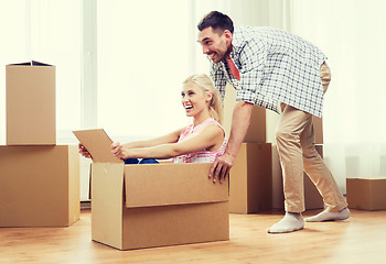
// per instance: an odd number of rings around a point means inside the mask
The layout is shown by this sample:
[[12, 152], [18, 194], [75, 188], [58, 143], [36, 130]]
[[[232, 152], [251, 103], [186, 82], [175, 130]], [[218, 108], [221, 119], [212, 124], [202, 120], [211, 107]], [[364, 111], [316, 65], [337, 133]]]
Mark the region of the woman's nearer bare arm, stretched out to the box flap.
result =
[[165, 143], [142, 148], [127, 148], [112, 145], [112, 153], [118, 158], [170, 158], [202, 150], [218, 148], [224, 141], [224, 132], [218, 125], [211, 124], [199, 134], [178, 143]]

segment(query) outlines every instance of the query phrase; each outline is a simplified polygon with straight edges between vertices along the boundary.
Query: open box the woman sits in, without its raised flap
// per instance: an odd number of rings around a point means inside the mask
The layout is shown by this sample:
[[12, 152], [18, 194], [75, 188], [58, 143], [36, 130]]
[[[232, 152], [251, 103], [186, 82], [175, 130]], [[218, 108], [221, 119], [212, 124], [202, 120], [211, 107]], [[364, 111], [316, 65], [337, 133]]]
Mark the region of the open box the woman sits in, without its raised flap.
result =
[[93, 240], [119, 250], [228, 240], [228, 183], [213, 184], [210, 166], [93, 163]]

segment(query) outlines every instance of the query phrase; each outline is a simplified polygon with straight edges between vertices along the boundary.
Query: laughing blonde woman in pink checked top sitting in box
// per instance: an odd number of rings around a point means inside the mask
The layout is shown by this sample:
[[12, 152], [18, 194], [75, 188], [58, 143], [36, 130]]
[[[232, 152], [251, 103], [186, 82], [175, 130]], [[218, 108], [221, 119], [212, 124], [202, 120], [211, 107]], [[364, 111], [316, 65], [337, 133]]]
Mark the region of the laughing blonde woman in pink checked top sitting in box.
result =
[[[224, 154], [225, 131], [221, 125], [222, 100], [207, 75], [192, 75], [183, 81], [182, 106], [193, 124], [148, 141], [112, 143], [111, 152], [125, 163], [158, 163], [152, 158], [173, 157], [174, 163], [210, 163]], [[81, 154], [89, 153], [79, 145]], [[149, 160], [151, 158], [151, 160]]]

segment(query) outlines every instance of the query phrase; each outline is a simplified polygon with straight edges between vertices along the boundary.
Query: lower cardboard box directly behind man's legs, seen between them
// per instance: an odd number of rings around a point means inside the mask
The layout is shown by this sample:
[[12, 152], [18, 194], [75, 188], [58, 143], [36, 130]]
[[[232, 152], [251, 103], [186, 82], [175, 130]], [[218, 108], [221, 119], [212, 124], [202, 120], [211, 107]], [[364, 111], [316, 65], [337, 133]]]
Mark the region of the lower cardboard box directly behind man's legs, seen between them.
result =
[[[317, 151], [323, 157], [323, 145], [315, 145]], [[276, 209], [285, 209], [285, 195], [282, 186], [282, 170], [276, 146], [272, 147], [272, 174], [274, 174], [274, 202]], [[303, 174], [304, 206], [305, 210], [324, 208], [324, 201], [310, 177]]]

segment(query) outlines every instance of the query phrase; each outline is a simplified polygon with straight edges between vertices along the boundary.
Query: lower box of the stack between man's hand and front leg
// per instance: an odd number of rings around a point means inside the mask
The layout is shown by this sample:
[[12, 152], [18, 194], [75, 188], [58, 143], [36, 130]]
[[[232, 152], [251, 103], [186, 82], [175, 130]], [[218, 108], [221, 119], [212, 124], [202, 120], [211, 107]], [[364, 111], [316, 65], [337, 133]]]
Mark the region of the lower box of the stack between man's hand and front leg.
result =
[[243, 143], [229, 175], [229, 212], [250, 213], [271, 209], [272, 170], [270, 143]]

